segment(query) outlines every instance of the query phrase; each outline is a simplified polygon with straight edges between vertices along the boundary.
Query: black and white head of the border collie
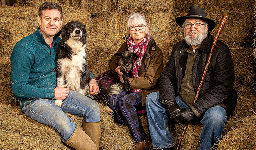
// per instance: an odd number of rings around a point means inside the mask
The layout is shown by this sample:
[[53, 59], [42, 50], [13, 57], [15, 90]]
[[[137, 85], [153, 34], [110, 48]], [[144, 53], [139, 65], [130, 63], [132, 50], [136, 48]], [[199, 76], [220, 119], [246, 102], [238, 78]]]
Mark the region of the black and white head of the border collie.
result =
[[87, 32], [85, 25], [79, 21], [70, 21], [60, 30], [62, 39], [73, 39], [81, 40], [84, 44], [86, 43]]

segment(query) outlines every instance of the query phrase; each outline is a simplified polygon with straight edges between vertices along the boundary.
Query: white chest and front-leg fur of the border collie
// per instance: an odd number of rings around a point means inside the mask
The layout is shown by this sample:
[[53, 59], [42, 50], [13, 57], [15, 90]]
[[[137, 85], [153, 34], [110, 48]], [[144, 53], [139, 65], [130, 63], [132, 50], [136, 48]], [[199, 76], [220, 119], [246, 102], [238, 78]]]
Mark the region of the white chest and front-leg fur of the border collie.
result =
[[61, 71], [65, 77], [62, 76], [62, 79], [57, 79], [57, 86], [64, 84], [65, 79], [66, 83], [69, 83], [68, 88], [79, 91], [81, 72], [85, 71], [83, 64], [87, 64], [87, 55], [85, 53], [86, 44], [73, 39], [67, 40], [67, 44], [70, 46], [73, 53], [71, 54], [71, 60], [69, 58], [58, 60], [62, 66]]

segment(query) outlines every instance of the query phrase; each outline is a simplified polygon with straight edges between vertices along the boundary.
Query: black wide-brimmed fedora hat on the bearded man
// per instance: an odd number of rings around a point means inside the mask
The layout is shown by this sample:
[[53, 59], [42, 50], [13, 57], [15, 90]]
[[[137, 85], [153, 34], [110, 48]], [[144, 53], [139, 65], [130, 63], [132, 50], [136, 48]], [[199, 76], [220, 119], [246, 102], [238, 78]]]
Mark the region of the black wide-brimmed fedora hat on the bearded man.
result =
[[214, 20], [206, 17], [205, 10], [198, 6], [191, 6], [189, 13], [187, 13], [186, 16], [177, 17], [175, 21], [180, 27], [182, 27], [182, 24], [188, 18], [198, 18], [198, 19], [205, 20], [205, 22], [209, 25], [208, 31], [213, 30], [216, 25]]

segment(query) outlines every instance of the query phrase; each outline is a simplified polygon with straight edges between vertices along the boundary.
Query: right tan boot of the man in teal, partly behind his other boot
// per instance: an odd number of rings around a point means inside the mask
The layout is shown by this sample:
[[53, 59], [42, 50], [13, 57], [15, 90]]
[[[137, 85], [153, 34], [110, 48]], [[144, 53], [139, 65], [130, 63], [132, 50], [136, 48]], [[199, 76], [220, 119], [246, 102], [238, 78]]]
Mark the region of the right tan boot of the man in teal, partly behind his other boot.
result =
[[83, 122], [83, 131], [92, 139], [99, 150], [99, 142], [101, 139], [102, 120], [98, 122]]

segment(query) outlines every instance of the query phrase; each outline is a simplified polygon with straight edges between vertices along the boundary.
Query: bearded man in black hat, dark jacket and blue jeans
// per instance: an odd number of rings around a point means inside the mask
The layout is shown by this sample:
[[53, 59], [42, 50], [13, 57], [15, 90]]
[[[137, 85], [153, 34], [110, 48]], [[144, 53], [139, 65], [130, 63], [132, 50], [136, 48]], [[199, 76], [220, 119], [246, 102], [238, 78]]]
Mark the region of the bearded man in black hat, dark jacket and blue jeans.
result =
[[206, 17], [203, 8], [191, 6], [186, 16], [176, 18], [184, 29], [184, 39], [174, 44], [169, 61], [161, 74], [159, 92], [146, 98], [147, 116], [155, 149], [174, 150], [168, 121], [187, 124], [200, 120], [204, 125], [199, 150], [209, 150], [221, 138], [230, 115], [237, 104], [234, 85], [234, 65], [229, 47], [218, 41], [200, 89], [214, 37], [210, 31], [215, 22]]

